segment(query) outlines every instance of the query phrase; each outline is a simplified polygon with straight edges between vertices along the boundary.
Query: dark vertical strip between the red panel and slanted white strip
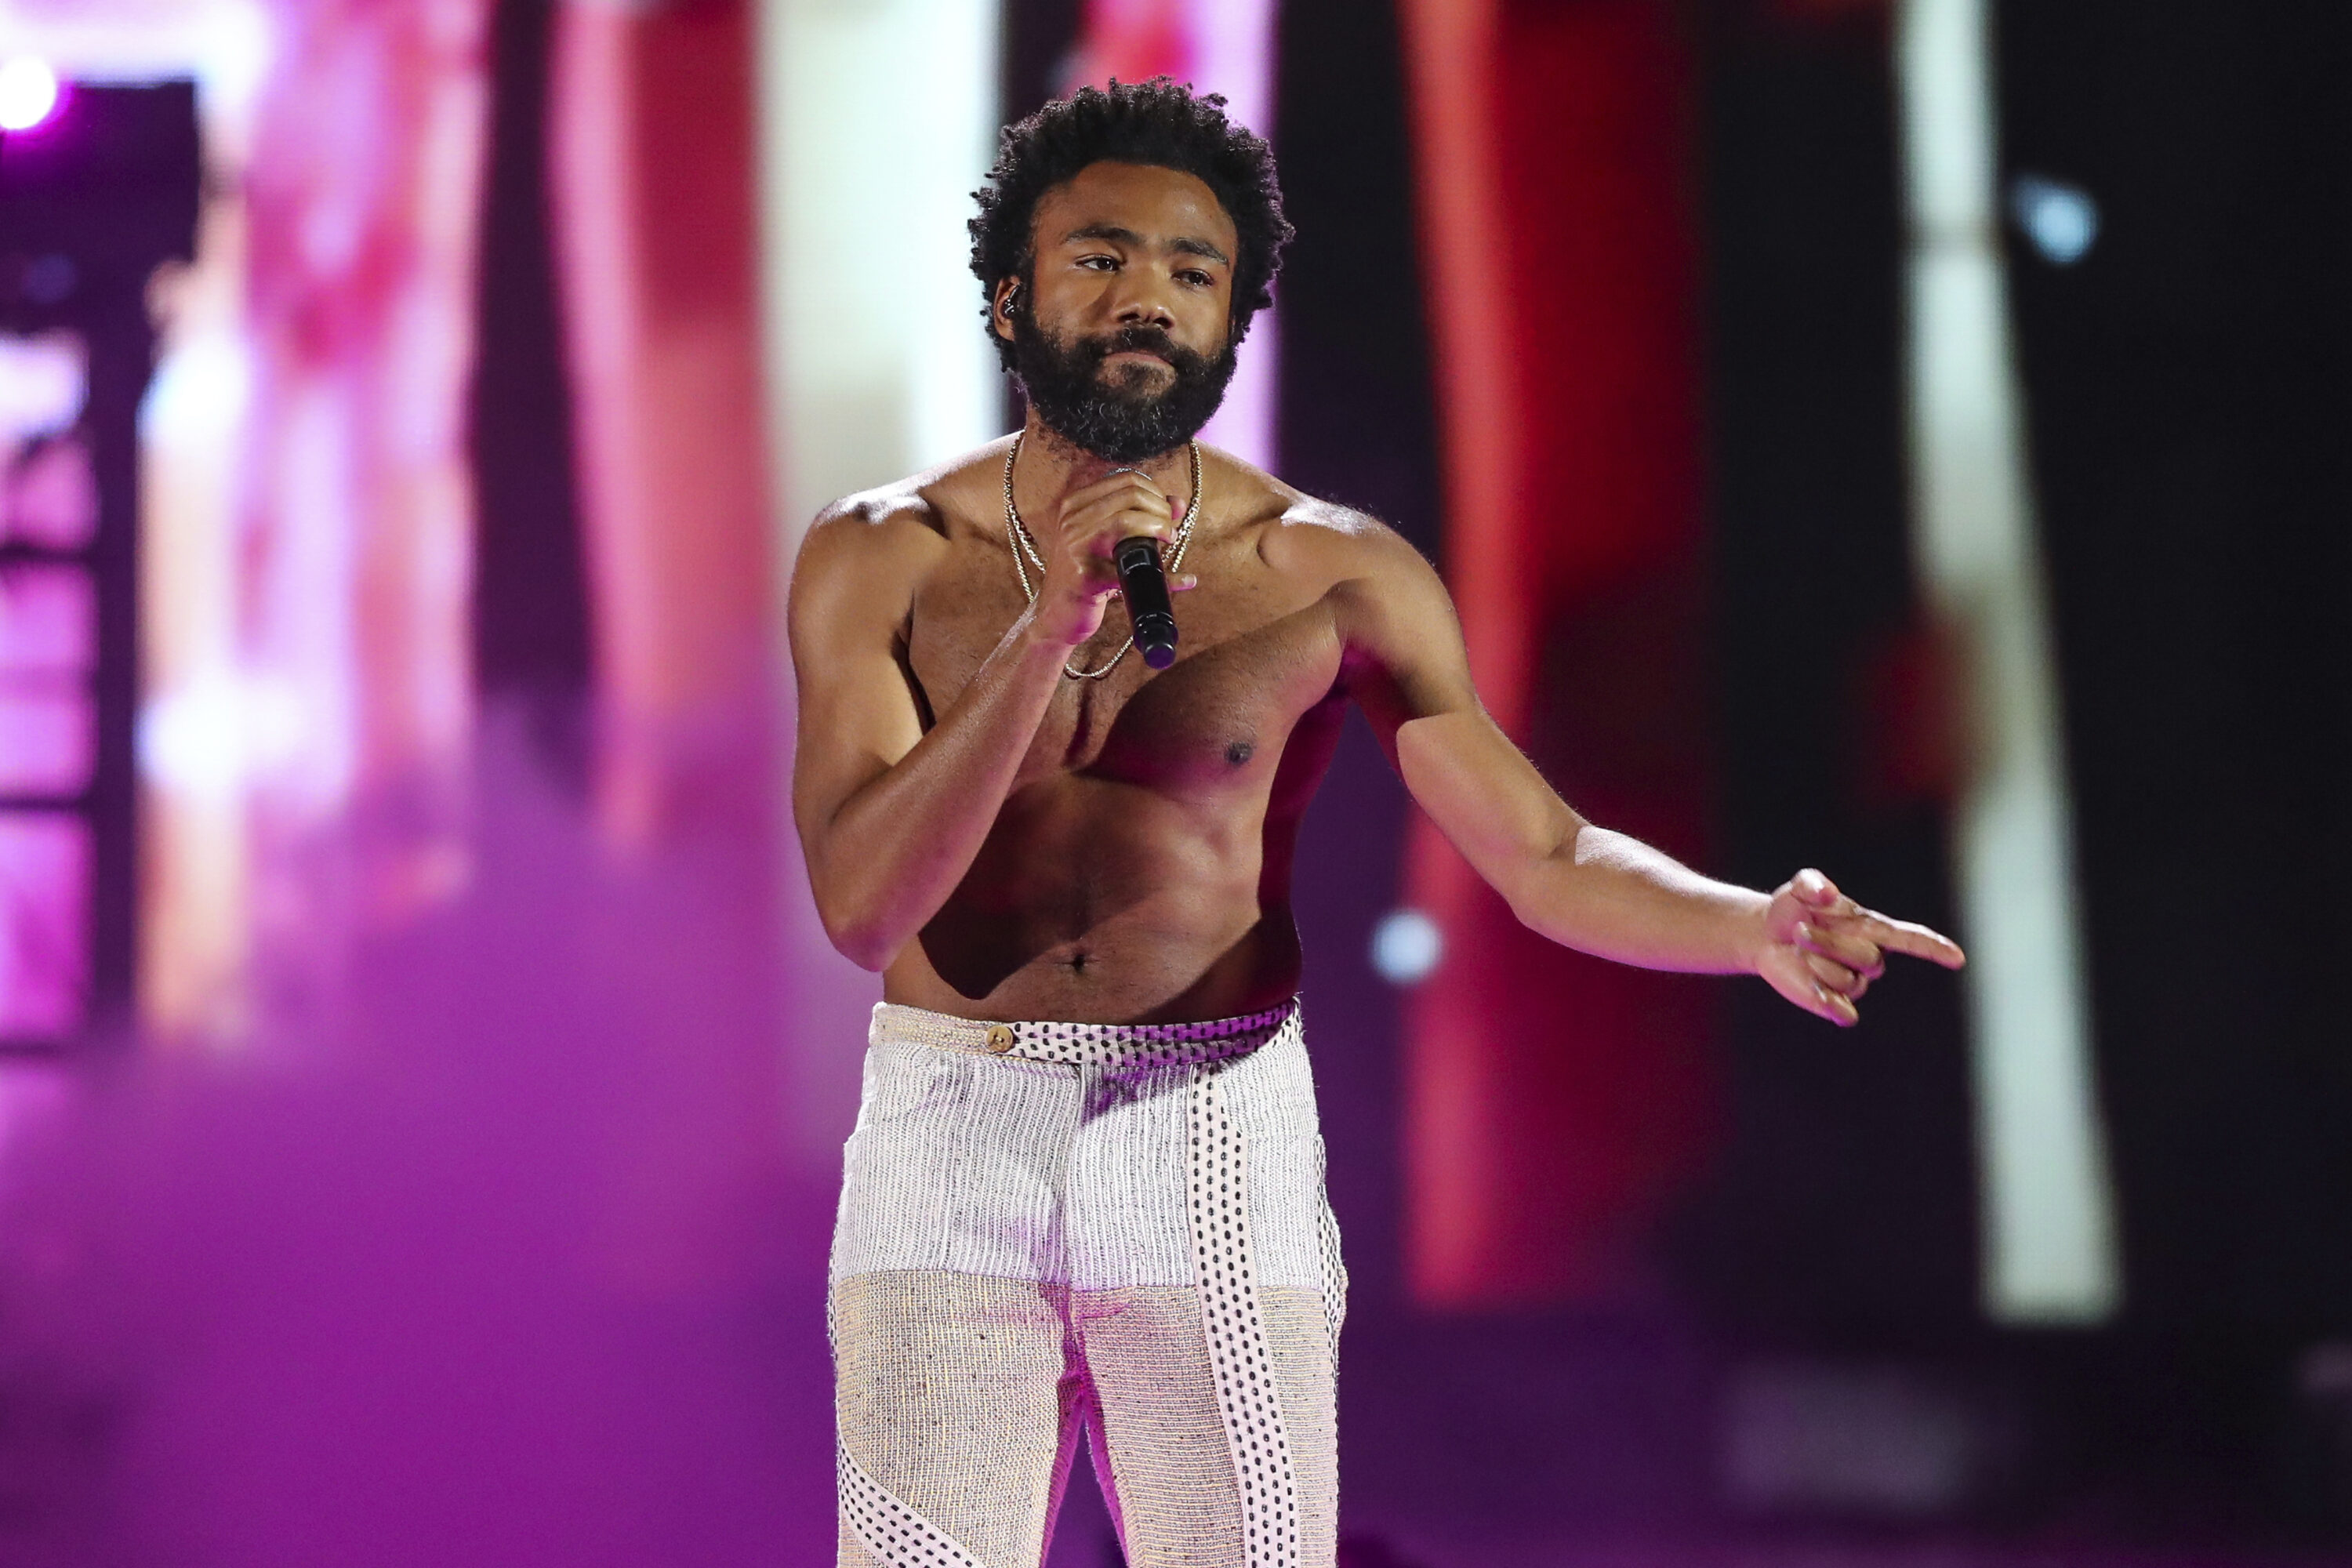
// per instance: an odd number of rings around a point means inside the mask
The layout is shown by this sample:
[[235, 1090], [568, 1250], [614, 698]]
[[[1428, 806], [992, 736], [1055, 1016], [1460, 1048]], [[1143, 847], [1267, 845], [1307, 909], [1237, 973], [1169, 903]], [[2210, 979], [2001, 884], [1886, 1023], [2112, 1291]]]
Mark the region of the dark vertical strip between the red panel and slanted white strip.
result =
[[[1722, 867], [1773, 886], [1818, 865], [1950, 929], [1952, 757], [1907, 548], [1886, 21], [1867, 2], [1743, 0], [1705, 33]], [[1686, 1215], [1689, 1279], [1743, 1335], [1966, 1333], [1957, 985], [1900, 966], [1851, 1032], [1762, 985], [1724, 1001], [1731, 1140]]]

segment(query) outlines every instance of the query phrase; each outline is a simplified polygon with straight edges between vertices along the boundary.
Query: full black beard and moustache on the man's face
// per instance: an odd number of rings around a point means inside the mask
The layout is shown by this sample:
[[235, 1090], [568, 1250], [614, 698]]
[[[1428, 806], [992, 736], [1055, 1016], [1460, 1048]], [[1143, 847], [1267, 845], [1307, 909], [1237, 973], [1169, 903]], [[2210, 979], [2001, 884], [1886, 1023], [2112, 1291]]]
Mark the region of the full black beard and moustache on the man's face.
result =
[[[1122, 364], [1103, 378], [1103, 360], [1141, 350], [1176, 371], [1155, 390], [1157, 371]], [[1112, 463], [1148, 463], [1176, 451], [1225, 400], [1235, 355], [1181, 348], [1160, 327], [1122, 327], [1101, 339], [1056, 339], [1028, 315], [1014, 317], [1014, 374], [1047, 430]]]

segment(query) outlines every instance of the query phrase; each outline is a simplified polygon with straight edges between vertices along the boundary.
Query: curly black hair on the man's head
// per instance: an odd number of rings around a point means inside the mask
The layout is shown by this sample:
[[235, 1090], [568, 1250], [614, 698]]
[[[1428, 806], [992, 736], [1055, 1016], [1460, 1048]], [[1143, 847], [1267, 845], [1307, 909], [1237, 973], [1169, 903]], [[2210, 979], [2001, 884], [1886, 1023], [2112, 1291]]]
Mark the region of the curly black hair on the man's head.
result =
[[[1035, 261], [1033, 221], [1037, 200], [1075, 179], [1094, 162], [1141, 162], [1197, 176], [1232, 219], [1242, 254], [1232, 263], [1230, 343], [1249, 331], [1249, 317], [1275, 303], [1275, 273], [1291, 242], [1275, 181], [1275, 150], [1263, 136], [1225, 118], [1225, 94], [1195, 94], [1157, 75], [1148, 82], [1112, 80], [1080, 87], [1018, 125], [1007, 125], [988, 183], [971, 193], [981, 212], [971, 230], [971, 275], [990, 294], [1002, 277], [1028, 277]], [[981, 315], [993, 320], [983, 299]], [[995, 331], [1004, 369], [1014, 346]]]

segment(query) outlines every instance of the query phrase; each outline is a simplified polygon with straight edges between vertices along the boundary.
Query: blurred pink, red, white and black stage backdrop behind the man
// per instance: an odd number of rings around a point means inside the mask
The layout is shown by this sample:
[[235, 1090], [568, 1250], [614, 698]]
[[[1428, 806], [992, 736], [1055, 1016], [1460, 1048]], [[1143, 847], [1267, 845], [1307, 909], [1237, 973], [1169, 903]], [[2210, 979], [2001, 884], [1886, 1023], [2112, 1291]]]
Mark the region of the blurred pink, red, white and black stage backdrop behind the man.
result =
[[1155, 73], [1301, 230], [1209, 440], [1588, 816], [1973, 957], [1552, 950], [1350, 729], [1345, 1561], [2352, 1544], [2352, 12], [0, 0], [0, 1561], [830, 1561], [786, 581]]

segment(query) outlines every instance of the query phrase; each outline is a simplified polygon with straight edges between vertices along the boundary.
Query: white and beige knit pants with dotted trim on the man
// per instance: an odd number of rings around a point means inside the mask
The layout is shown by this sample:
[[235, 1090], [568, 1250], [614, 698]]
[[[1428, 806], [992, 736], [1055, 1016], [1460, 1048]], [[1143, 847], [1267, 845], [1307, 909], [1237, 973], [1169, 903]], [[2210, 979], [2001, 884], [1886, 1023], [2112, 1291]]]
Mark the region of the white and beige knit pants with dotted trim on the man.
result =
[[833, 1237], [842, 1568], [1035, 1568], [1082, 1429], [1131, 1568], [1331, 1568], [1343, 1302], [1296, 1004], [877, 1006]]

